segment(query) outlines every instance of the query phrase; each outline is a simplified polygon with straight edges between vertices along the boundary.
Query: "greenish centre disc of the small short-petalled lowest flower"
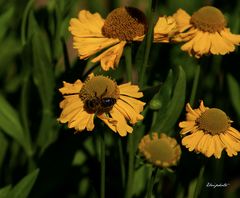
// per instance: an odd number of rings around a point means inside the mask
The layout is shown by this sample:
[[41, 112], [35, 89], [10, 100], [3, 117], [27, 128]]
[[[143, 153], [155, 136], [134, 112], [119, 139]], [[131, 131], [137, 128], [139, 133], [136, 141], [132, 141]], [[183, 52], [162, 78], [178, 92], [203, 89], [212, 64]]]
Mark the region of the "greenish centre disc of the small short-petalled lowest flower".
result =
[[161, 162], [171, 162], [174, 158], [173, 149], [165, 140], [152, 140], [151, 143], [146, 146], [146, 150], [151, 155], [153, 162], [157, 160]]

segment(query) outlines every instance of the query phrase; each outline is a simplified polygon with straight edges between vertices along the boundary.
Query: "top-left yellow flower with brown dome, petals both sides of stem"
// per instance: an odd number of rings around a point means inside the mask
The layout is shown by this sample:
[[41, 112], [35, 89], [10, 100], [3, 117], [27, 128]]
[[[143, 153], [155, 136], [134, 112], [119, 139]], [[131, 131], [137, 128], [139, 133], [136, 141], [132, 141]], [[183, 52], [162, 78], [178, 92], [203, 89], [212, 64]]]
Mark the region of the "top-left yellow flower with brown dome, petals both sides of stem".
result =
[[[171, 20], [158, 20], [156, 41], [166, 42], [168, 31], [171, 30], [169, 26], [172, 27]], [[80, 59], [87, 59], [103, 50], [91, 61], [100, 61], [102, 69], [107, 71], [118, 65], [128, 42], [143, 40], [148, 25], [142, 11], [133, 7], [120, 7], [110, 12], [105, 20], [98, 13], [82, 10], [78, 18], [71, 19], [69, 30], [73, 35], [73, 47], [78, 50]]]

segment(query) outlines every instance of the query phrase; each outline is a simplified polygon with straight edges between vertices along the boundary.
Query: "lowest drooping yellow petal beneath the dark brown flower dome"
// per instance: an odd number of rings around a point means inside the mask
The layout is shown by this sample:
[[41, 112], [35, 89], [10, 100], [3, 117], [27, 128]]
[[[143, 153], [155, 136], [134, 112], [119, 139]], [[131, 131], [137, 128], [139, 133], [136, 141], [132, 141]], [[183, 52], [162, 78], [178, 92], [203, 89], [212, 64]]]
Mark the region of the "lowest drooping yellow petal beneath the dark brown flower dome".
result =
[[126, 41], [121, 41], [94, 58], [92, 62], [101, 61], [101, 67], [105, 71], [108, 71], [110, 68], [114, 69], [120, 61], [125, 44]]

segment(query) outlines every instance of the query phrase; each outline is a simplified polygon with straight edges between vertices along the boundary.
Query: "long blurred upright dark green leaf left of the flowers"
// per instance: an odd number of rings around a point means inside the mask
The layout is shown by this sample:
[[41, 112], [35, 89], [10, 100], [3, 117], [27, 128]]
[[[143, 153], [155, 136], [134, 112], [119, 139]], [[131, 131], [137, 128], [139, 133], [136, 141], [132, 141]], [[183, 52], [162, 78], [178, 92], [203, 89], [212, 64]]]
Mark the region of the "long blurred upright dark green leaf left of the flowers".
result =
[[47, 38], [41, 31], [33, 36], [33, 78], [42, 102], [42, 120], [37, 137], [41, 152], [57, 137], [56, 118], [53, 114], [52, 102], [55, 91], [53, 65], [51, 64]]

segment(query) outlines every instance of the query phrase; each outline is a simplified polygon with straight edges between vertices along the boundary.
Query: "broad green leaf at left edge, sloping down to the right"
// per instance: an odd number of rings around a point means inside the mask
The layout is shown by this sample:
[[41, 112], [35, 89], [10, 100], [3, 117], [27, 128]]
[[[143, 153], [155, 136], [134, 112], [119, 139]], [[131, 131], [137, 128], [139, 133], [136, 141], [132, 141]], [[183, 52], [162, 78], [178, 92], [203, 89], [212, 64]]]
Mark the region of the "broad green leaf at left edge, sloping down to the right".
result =
[[17, 112], [2, 95], [0, 95], [0, 128], [22, 145], [29, 156], [32, 154], [30, 142], [24, 134]]

